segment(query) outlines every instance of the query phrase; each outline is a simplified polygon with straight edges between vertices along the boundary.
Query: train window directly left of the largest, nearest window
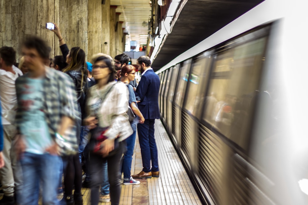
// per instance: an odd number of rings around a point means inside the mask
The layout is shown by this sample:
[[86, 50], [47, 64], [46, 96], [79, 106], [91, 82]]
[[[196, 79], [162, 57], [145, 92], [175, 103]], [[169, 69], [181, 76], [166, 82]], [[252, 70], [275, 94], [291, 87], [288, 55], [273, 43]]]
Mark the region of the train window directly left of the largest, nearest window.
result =
[[184, 108], [193, 116], [200, 118], [200, 104], [204, 101], [205, 88], [211, 66], [209, 52], [203, 53], [193, 62], [192, 72], [188, 80], [187, 97]]

